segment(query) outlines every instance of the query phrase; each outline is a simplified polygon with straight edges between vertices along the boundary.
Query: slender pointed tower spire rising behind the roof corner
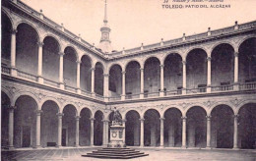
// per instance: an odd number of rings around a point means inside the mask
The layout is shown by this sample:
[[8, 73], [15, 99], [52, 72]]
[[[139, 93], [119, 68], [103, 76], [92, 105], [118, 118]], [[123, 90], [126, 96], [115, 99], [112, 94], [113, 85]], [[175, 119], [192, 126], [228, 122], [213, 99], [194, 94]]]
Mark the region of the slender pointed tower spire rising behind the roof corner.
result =
[[105, 0], [105, 7], [104, 7], [104, 20], [103, 20], [103, 26], [100, 27], [101, 31], [101, 38], [98, 44], [98, 48], [101, 49], [103, 53], [111, 53], [112, 52], [112, 46], [111, 41], [109, 39], [109, 33], [110, 33], [110, 27], [107, 25], [107, 16], [106, 16], [106, 0]]

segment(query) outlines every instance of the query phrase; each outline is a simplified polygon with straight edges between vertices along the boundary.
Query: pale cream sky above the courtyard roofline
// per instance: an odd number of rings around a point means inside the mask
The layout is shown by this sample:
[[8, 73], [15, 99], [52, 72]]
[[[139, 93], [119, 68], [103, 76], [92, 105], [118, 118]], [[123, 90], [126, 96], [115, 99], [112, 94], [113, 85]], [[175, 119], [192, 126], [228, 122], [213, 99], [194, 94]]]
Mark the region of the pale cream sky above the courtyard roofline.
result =
[[[99, 43], [103, 25], [104, 0], [22, 0], [36, 11], [89, 43]], [[230, 5], [230, 8], [163, 9], [164, 0], [107, 0], [107, 19], [110, 39], [115, 50], [158, 43], [211, 29], [230, 27], [237, 21], [243, 24], [256, 20], [256, 0], [221, 0], [188, 5]], [[181, 4], [168, 0], [168, 5]], [[192, 1], [192, 0], [190, 0]], [[204, 1], [204, 0], [202, 0]], [[209, 0], [210, 1], [210, 0]]]

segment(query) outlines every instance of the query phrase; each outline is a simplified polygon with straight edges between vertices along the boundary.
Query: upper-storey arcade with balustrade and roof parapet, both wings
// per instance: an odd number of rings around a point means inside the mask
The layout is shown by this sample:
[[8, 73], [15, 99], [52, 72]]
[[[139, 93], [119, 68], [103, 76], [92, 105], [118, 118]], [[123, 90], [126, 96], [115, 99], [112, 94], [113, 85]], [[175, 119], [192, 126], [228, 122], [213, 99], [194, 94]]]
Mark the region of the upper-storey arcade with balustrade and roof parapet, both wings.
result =
[[110, 56], [49, 21], [20, 1], [3, 4], [3, 75], [104, 101], [256, 88], [256, 22]]

